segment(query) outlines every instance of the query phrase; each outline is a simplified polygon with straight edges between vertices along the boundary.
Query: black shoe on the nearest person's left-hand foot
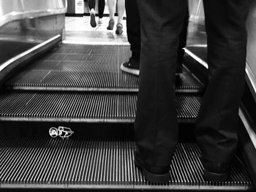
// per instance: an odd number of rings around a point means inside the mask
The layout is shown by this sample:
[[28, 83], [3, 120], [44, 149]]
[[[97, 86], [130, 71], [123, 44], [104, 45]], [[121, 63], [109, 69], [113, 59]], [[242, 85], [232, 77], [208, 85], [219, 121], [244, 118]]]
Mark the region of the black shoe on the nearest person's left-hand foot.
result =
[[152, 183], [168, 183], [170, 181], [170, 166], [146, 166], [140, 158], [139, 150], [135, 150], [135, 166], [142, 169], [142, 174], [145, 176], [146, 180]]

